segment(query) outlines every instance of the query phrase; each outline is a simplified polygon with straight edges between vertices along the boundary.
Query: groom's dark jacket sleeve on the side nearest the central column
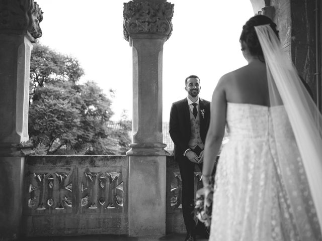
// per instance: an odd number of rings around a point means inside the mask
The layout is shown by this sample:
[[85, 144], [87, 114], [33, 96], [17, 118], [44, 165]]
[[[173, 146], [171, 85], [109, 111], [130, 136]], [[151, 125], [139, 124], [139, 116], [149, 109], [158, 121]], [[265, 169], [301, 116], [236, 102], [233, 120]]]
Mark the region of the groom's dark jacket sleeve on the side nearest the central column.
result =
[[189, 149], [189, 146], [185, 144], [183, 137], [180, 135], [179, 114], [175, 103], [171, 106], [169, 133], [172, 141], [176, 146], [180, 147], [181, 154], [183, 155], [183, 153]]

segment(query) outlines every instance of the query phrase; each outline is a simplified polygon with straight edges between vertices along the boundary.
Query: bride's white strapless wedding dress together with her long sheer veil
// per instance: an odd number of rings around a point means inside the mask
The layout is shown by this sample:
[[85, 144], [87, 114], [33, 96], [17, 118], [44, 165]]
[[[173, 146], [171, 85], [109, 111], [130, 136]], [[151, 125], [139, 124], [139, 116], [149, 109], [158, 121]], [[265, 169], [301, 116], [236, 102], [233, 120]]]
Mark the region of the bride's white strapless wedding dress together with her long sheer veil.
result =
[[255, 27], [270, 107], [227, 103], [210, 240], [322, 240], [322, 115], [269, 25]]

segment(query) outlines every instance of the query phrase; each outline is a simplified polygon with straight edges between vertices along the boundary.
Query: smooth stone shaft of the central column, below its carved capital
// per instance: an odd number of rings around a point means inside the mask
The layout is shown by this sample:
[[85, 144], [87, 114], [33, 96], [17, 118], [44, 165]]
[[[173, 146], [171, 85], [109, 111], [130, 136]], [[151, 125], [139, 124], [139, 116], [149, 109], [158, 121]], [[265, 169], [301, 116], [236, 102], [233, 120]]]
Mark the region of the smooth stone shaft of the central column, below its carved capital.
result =
[[164, 40], [133, 40], [133, 143], [162, 143]]

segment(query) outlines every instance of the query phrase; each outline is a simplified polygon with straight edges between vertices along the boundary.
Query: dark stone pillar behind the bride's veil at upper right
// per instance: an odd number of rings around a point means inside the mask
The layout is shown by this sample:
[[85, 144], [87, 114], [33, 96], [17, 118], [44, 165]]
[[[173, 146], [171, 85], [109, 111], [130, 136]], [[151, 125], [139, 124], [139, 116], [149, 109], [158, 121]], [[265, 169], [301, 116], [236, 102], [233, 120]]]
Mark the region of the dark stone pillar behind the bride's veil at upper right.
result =
[[308, 0], [270, 0], [270, 6], [275, 9], [273, 21], [280, 31], [282, 46], [298, 74], [309, 85], [317, 104], [321, 95], [318, 87], [321, 82], [320, 68], [316, 66], [319, 64], [319, 39], [316, 38], [319, 35], [315, 32], [315, 12], [318, 11], [315, 4], [318, 3]]

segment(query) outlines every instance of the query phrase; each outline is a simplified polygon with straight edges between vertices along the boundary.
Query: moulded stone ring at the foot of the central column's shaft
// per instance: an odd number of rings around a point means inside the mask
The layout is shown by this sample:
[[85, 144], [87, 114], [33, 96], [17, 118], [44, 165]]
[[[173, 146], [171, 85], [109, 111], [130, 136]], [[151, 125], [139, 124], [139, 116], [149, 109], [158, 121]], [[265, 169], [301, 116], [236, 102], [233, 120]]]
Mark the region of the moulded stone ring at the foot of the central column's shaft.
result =
[[126, 156], [169, 156], [164, 143], [132, 143]]

